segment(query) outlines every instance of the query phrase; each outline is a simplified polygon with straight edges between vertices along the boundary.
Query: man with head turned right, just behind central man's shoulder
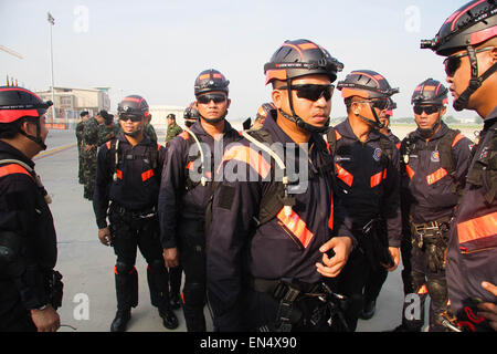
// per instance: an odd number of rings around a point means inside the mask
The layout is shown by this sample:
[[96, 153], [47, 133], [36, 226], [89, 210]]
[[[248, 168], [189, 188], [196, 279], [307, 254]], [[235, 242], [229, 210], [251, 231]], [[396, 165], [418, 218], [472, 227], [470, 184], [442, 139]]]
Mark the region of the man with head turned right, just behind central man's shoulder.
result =
[[[336, 154], [337, 189], [359, 240], [337, 280], [341, 292], [350, 296], [346, 317], [349, 330], [355, 331], [370, 274], [381, 269], [393, 271], [400, 260], [399, 152], [378, 131], [383, 127], [380, 118], [390, 107], [391, 95], [399, 90], [370, 70], [351, 72], [337, 87], [348, 117], [327, 133], [328, 144]], [[374, 302], [367, 310], [373, 313]]]

